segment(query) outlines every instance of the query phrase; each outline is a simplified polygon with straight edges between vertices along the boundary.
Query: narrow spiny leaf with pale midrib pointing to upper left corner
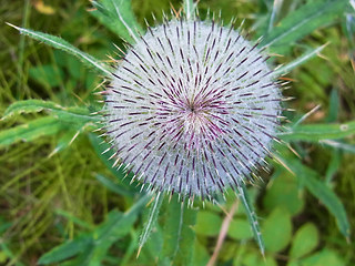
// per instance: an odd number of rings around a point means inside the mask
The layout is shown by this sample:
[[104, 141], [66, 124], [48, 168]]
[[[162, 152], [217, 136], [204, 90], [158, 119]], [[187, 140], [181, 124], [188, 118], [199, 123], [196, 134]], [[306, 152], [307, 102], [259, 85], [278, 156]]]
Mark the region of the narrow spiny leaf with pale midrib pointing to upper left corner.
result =
[[64, 41], [61, 38], [54, 37], [51, 34], [47, 34], [43, 32], [39, 32], [39, 31], [33, 31], [33, 30], [20, 28], [20, 27], [10, 24], [10, 23], [7, 23], [7, 24], [17, 29], [18, 31], [20, 31], [21, 34], [26, 34], [28, 37], [33, 38], [34, 40], [42, 41], [43, 43], [45, 43], [48, 45], [63, 50], [72, 55], [79, 58], [89, 68], [97, 70], [98, 72], [100, 72], [101, 74], [104, 74], [105, 76], [111, 76], [111, 71], [108, 65], [104, 65], [103, 63], [101, 63], [100, 61], [98, 61], [97, 59], [91, 57], [90, 54], [87, 54], [87, 53], [80, 51], [78, 48], [73, 47], [72, 44], [70, 44], [69, 42]]

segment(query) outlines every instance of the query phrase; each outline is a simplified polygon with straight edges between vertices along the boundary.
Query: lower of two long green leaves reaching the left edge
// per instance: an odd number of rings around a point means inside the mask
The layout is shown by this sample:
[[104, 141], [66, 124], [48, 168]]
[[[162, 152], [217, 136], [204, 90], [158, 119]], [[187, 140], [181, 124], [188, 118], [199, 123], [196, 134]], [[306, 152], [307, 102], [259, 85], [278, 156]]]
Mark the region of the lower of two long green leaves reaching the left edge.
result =
[[42, 136], [54, 135], [64, 129], [53, 116], [33, 120], [27, 124], [0, 132], [0, 147], [9, 146], [20, 141], [34, 141]]

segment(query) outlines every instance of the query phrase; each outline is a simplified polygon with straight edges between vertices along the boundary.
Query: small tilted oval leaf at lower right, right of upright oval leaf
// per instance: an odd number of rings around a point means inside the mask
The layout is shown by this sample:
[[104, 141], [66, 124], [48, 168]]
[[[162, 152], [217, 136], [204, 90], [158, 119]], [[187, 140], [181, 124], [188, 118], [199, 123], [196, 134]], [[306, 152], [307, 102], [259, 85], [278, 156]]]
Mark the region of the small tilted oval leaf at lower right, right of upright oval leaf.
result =
[[313, 252], [317, 247], [320, 242], [317, 227], [307, 223], [303, 225], [295, 234], [292, 242], [290, 256], [291, 258], [301, 258], [306, 254]]

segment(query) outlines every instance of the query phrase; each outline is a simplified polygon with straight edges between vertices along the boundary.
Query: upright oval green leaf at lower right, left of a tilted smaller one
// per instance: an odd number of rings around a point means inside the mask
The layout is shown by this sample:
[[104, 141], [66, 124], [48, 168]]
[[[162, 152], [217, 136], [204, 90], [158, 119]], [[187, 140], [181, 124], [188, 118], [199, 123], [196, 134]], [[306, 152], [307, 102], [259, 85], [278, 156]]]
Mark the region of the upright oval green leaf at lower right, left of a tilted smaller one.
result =
[[291, 242], [292, 223], [286, 209], [275, 208], [263, 223], [265, 247], [272, 253], [283, 250]]

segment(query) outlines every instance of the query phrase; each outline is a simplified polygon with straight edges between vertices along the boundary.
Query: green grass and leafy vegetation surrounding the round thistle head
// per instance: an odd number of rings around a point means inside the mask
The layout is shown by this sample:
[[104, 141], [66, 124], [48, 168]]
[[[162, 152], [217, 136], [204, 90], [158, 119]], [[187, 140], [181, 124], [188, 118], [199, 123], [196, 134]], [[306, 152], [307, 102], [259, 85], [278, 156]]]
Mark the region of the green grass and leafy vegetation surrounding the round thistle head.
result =
[[[159, 223], [135, 258], [149, 198], [110, 167], [108, 156], [101, 155], [104, 145], [91, 133], [94, 126], [88, 114], [100, 110], [93, 92], [100, 90], [102, 76], [4, 22], [60, 35], [108, 63], [113, 43], [121, 44], [121, 39], [98, 22], [85, 0], [2, 3], [0, 264], [263, 265], [245, 211], [232, 194], [225, 203], [196, 206], [199, 212], [181, 209], [174, 198], [170, 204], [165, 198]], [[199, 3], [201, 17], [211, 9], [221, 10], [224, 21], [245, 19], [250, 38], [264, 35], [274, 63], [286, 65], [281, 71], [290, 69], [283, 79], [292, 81], [291, 89], [284, 94], [295, 96], [287, 108], [296, 111], [285, 113], [291, 123], [281, 137], [298, 157], [277, 147], [271, 173], [262, 173], [265, 182], [248, 188], [264, 237], [265, 265], [355, 264], [349, 231], [355, 227], [351, 4], [354, 1]], [[144, 18], [153, 21], [151, 12], [161, 20], [162, 10], [169, 13], [171, 7], [179, 10], [181, 2], [132, 0], [142, 28]], [[300, 28], [290, 34], [294, 25]], [[39, 101], [21, 102], [30, 99]], [[11, 105], [17, 102], [20, 105]], [[77, 116], [84, 119], [69, 123]], [[174, 227], [180, 217], [181, 235]]]

